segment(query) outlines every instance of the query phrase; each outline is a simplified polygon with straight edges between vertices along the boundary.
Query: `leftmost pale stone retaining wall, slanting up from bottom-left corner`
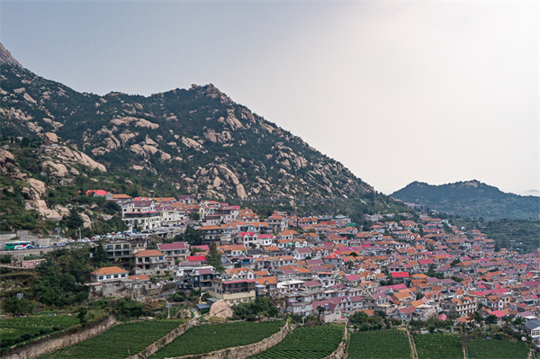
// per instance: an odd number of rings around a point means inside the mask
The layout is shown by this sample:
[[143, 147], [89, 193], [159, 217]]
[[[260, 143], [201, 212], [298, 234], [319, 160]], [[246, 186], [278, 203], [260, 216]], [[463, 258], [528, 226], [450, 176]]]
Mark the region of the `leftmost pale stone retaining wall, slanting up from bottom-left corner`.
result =
[[118, 324], [118, 322], [111, 316], [104, 319], [102, 322], [79, 332], [64, 334], [57, 338], [44, 337], [27, 346], [15, 348], [12, 352], [5, 354], [3, 359], [31, 359], [40, 355], [46, 355], [66, 346], [73, 346], [83, 340], [98, 336], [104, 331], [114, 327], [116, 324]]

